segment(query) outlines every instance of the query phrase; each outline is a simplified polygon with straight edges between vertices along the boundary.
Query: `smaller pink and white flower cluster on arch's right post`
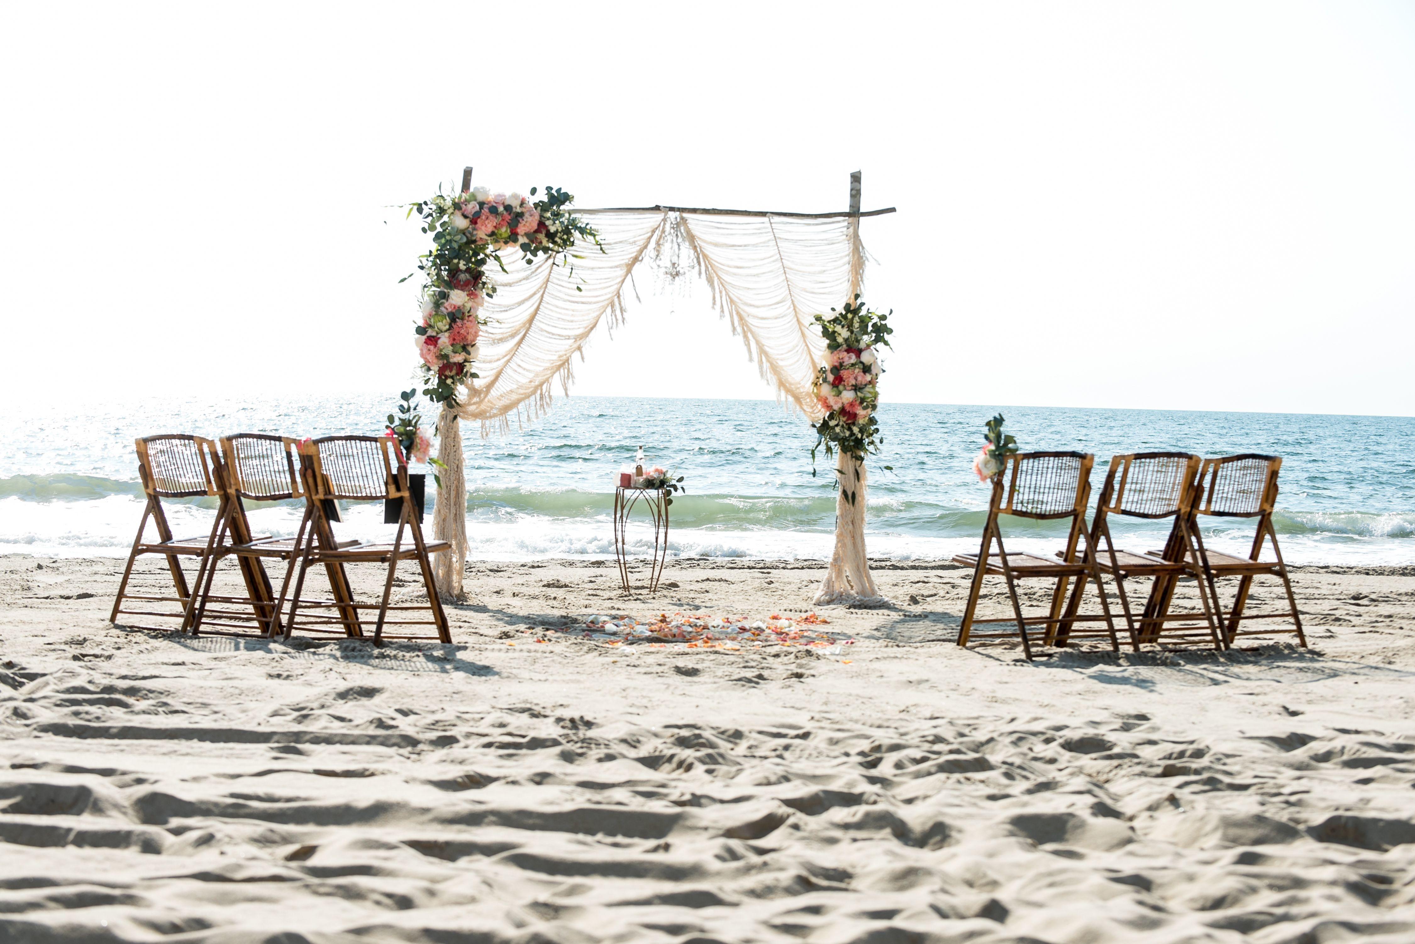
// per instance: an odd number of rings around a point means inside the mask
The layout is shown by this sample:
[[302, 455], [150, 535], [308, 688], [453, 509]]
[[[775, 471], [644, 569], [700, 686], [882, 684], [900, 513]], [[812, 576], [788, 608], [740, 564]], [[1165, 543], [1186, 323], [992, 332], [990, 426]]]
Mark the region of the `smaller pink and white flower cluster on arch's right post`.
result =
[[[865, 461], [866, 454], [879, 453], [884, 443], [874, 410], [879, 406], [879, 376], [884, 372], [879, 348], [890, 347], [889, 335], [894, 333], [887, 323], [890, 314], [893, 311], [880, 314], [866, 309], [856, 294], [839, 311], [831, 309], [828, 314], [815, 316], [825, 338], [826, 362], [816, 371], [812, 385], [816, 402], [825, 410], [815, 425], [812, 463], [822, 444], [826, 456], [839, 450], [842, 456]], [[814, 468], [811, 474], [815, 474]], [[855, 493], [848, 493], [848, 498], [853, 504]]]

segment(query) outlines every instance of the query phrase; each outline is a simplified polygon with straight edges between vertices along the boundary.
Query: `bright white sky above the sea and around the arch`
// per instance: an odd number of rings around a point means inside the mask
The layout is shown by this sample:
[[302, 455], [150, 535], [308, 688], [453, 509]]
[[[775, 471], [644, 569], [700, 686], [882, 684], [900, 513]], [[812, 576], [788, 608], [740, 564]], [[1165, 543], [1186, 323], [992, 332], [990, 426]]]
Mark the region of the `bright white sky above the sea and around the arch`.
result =
[[[903, 402], [1415, 415], [1415, 4], [4, 4], [0, 392], [396, 396], [406, 204], [843, 209]], [[770, 396], [703, 293], [580, 393]], [[11, 413], [13, 415], [13, 413]]]

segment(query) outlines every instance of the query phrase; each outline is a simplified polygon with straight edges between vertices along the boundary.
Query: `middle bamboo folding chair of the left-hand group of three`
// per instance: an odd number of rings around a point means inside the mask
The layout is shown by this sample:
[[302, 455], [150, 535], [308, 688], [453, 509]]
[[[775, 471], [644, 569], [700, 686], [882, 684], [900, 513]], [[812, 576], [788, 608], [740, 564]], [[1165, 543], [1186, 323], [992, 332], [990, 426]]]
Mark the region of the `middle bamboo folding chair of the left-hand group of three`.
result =
[[[204, 627], [224, 635], [275, 637], [283, 633], [280, 613], [284, 609], [294, 563], [304, 548], [310, 512], [306, 508], [294, 538], [256, 536], [246, 518], [245, 502], [303, 498], [296, 454], [297, 442], [283, 436], [239, 433], [221, 439], [221, 463], [216, 466], [215, 478], [225, 494], [224, 515], [218, 522], [216, 542], [198, 596], [197, 613], [188, 626], [194, 635]], [[241, 566], [248, 589], [245, 597], [214, 596], [211, 592], [216, 569], [228, 556], [235, 556]], [[263, 565], [266, 559], [286, 565], [279, 596], [273, 593], [270, 577], [266, 575]], [[212, 610], [209, 609], [212, 603], [225, 609]], [[250, 613], [232, 607], [249, 607]], [[250, 631], [252, 624], [255, 631]]]

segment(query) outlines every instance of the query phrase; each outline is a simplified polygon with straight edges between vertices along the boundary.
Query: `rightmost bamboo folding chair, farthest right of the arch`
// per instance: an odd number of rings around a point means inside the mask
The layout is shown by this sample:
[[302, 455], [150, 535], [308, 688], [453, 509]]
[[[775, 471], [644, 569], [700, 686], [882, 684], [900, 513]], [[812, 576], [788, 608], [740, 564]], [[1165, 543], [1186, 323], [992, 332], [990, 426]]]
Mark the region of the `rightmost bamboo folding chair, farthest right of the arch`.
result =
[[[1278, 471], [1281, 468], [1282, 459], [1278, 456], [1244, 453], [1223, 459], [1206, 459], [1199, 473], [1199, 487], [1203, 490], [1203, 497], [1194, 502], [1193, 508], [1194, 543], [1199, 558], [1197, 563], [1193, 555], [1187, 555], [1184, 559], [1189, 563], [1189, 573], [1208, 587], [1214, 613], [1223, 624], [1224, 641], [1228, 645], [1232, 645], [1240, 635], [1271, 635], [1274, 633], [1295, 633], [1298, 644], [1303, 648], [1307, 645], [1306, 633], [1302, 631], [1302, 617], [1298, 614], [1298, 599], [1292, 593], [1292, 580], [1288, 579], [1288, 565], [1282, 560], [1278, 532], [1272, 526], [1272, 510], [1278, 502]], [[1257, 518], [1258, 529], [1252, 539], [1252, 551], [1247, 558], [1238, 558], [1207, 549], [1197, 526], [1197, 515]], [[1261, 559], [1264, 541], [1272, 541], [1272, 553], [1276, 560]], [[1252, 580], [1259, 576], [1282, 580], [1282, 589], [1288, 596], [1286, 613], [1249, 614], [1244, 611], [1248, 606]], [[1218, 580], [1223, 577], [1238, 577], [1238, 593], [1234, 596], [1232, 607], [1227, 611], [1218, 600]], [[1248, 620], [1290, 620], [1292, 628], [1241, 630], [1240, 624]]]

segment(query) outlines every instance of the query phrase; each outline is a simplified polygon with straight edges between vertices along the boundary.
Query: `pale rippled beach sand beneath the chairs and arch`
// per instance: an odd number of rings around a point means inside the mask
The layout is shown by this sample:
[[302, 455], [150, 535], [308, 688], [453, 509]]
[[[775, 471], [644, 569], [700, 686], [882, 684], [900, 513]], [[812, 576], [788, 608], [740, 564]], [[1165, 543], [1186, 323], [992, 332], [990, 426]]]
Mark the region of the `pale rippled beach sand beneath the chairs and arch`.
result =
[[1411, 569], [1300, 570], [1306, 651], [1027, 664], [927, 562], [839, 652], [559, 631], [807, 563], [477, 565], [379, 651], [116, 628], [120, 568], [0, 558], [0, 941], [1415, 941]]

